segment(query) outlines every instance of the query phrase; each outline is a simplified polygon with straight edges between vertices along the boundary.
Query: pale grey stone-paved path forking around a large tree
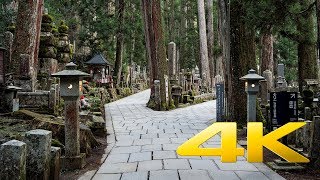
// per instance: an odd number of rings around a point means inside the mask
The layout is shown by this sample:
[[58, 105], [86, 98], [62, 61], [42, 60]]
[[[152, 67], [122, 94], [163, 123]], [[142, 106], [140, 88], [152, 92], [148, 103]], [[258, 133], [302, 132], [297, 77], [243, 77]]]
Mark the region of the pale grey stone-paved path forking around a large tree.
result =
[[[214, 122], [215, 101], [156, 112], [146, 107], [149, 94], [147, 90], [106, 105], [109, 154], [93, 180], [283, 179], [245, 157], [221, 163], [219, 157], [178, 156], [180, 144]], [[214, 137], [204, 146], [219, 144], [220, 137]]]

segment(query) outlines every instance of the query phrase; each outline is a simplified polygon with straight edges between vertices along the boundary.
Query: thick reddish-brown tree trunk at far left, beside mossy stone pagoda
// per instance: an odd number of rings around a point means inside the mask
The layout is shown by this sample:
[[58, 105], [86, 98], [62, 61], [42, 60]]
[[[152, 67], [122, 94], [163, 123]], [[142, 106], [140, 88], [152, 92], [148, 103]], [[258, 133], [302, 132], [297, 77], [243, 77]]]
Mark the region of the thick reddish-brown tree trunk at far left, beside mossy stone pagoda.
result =
[[[15, 74], [15, 85], [29, 84], [24, 87], [30, 89], [24, 89], [24, 91], [35, 90], [42, 11], [43, 0], [19, 0], [13, 41], [12, 70]], [[28, 58], [20, 58], [22, 54], [28, 55]], [[25, 71], [23, 75], [21, 70]]]

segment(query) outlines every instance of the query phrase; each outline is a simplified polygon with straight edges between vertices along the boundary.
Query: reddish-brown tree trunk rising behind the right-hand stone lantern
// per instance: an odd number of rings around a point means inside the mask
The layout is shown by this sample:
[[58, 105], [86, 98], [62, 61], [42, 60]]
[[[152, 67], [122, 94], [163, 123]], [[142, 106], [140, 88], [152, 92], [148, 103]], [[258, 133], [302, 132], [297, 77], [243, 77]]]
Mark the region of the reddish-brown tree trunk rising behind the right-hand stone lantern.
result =
[[261, 73], [265, 70], [270, 70], [273, 72], [273, 35], [271, 33], [271, 28], [266, 28], [267, 30], [263, 32], [261, 37]]

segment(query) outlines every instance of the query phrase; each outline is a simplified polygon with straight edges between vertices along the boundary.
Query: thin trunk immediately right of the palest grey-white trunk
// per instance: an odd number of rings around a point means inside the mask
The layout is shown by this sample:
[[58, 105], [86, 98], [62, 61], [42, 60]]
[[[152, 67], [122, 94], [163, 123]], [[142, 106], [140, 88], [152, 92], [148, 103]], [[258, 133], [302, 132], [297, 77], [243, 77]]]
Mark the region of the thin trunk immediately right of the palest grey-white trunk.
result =
[[215, 60], [213, 56], [214, 49], [214, 30], [213, 30], [213, 0], [207, 0], [208, 8], [208, 61], [210, 69], [210, 79], [211, 88], [214, 86], [214, 76], [215, 76]]

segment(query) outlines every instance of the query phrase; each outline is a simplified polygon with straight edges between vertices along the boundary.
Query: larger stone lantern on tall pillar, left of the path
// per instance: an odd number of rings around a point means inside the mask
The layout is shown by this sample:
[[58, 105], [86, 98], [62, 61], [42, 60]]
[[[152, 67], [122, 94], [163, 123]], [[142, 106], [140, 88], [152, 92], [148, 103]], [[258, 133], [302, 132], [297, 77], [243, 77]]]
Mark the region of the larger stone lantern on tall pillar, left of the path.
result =
[[80, 154], [79, 127], [79, 81], [90, 76], [76, 70], [77, 65], [68, 63], [66, 69], [52, 74], [60, 78], [60, 95], [65, 107], [65, 157], [62, 158], [64, 169], [81, 169], [85, 165], [85, 154]]

